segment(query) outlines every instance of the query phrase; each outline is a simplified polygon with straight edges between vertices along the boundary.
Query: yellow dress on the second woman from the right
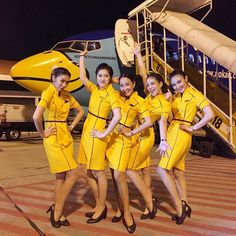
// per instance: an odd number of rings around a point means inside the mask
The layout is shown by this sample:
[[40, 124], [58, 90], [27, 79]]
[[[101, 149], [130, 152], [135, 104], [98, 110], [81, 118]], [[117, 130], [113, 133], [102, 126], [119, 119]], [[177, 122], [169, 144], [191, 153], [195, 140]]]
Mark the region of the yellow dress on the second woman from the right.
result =
[[[171, 111], [171, 104], [164, 95], [152, 97], [149, 94], [145, 98], [145, 106], [150, 112], [151, 121], [154, 123], [161, 116], [168, 118]], [[140, 170], [151, 165], [150, 152], [154, 145], [155, 134], [153, 127], [145, 129], [138, 137], [137, 142], [132, 147], [132, 152], [128, 162], [128, 169]]]

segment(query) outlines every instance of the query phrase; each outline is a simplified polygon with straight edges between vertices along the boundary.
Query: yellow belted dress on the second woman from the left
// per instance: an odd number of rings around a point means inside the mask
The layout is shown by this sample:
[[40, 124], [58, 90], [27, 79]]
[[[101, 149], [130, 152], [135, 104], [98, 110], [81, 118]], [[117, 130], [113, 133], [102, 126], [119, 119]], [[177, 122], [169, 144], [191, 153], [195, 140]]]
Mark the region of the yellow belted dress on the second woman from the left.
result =
[[92, 129], [105, 130], [110, 112], [120, 107], [119, 94], [111, 84], [99, 89], [89, 81], [87, 89], [91, 92], [91, 96], [88, 116], [83, 126], [78, 161], [87, 165], [87, 169], [104, 170], [108, 137], [93, 138], [90, 132]]

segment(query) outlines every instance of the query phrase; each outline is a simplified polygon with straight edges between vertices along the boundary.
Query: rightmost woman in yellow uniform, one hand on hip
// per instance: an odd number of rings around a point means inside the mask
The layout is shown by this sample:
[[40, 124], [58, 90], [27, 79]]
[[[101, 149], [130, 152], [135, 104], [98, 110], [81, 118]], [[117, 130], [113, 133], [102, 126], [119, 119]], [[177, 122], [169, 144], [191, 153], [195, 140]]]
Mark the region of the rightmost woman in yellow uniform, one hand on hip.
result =
[[[174, 70], [170, 75], [170, 84], [176, 92], [172, 101], [173, 121], [167, 131], [167, 142], [171, 150], [161, 152], [157, 171], [174, 202], [177, 212], [174, 220], [176, 224], [182, 224], [187, 216], [191, 216], [184, 170], [185, 157], [191, 147], [192, 132], [213, 119], [214, 112], [203, 94], [188, 85], [188, 78], [183, 71]], [[202, 110], [204, 115], [199, 122], [192, 125], [198, 109]], [[173, 171], [174, 180], [169, 171]]]

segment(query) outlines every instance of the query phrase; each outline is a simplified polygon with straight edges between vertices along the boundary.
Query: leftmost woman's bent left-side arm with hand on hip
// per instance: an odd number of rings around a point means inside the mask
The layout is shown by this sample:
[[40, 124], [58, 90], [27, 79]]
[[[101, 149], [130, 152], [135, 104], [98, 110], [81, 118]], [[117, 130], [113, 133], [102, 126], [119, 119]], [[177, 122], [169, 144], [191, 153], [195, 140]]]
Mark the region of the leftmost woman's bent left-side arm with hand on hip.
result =
[[44, 108], [37, 106], [33, 114], [34, 125], [42, 138], [47, 138], [51, 134], [56, 134], [57, 128], [55, 126], [48, 127], [43, 130], [43, 112]]

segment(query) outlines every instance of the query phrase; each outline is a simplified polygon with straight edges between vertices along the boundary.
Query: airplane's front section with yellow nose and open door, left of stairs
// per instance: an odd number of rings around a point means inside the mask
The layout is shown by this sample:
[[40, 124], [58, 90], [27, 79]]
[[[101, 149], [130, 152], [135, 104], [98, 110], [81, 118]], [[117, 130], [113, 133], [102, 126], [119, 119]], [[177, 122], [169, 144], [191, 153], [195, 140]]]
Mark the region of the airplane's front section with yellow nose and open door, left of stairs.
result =
[[[80, 52], [88, 51], [85, 57], [86, 69], [88, 77], [95, 83], [95, 69], [100, 63], [109, 64], [115, 77], [124, 72], [134, 74], [133, 48], [136, 37], [130, 28], [135, 25], [135, 21], [119, 19], [114, 30], [93, 31], [65, 38], [50, 50], [16, 63], [11, 69], [11, 76], [16, 83], [40, 95], [50, 83], [52, 68], [55, 65], [66, 67], [72, 75], [67, 90], [81, 105], [87, 107], [90, 94], [79, 79]], [[141, 83], [141, 79], [137, 81], [137, 84]], [[114, 87], [117, 88], [116, 85]], [[142, 89], [138, 90], [141, 93]]]

